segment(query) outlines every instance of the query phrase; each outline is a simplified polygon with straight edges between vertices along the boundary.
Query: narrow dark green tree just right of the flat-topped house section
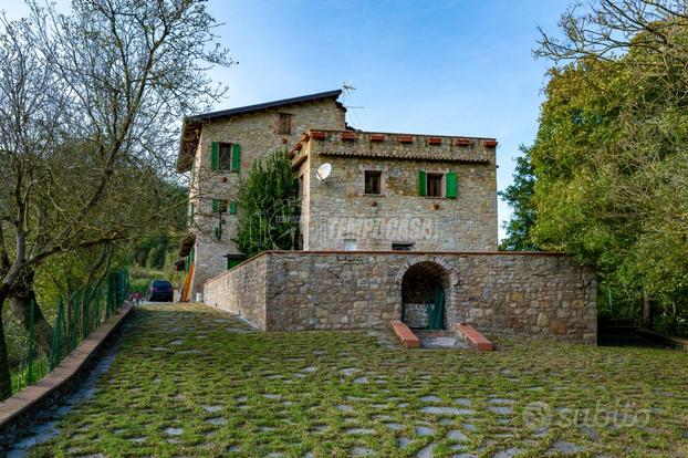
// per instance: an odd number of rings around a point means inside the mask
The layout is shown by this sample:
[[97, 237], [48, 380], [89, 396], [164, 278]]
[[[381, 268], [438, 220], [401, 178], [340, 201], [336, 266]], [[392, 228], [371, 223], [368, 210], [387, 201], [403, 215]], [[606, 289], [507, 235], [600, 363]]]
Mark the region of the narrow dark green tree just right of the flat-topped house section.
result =
[[523, 156], [517, 157], [513, 184], [498, 192], [513, 209], [511, 220], [504, 225], [507, 238], [500, 243], [500, 249], [511, 251], [538, 250], [538, 246], [530, 237], [531, 228], [535, 225], [538, 215], [532, 201], [535, 176], [529, 148], [521, 145], [519, 149]]

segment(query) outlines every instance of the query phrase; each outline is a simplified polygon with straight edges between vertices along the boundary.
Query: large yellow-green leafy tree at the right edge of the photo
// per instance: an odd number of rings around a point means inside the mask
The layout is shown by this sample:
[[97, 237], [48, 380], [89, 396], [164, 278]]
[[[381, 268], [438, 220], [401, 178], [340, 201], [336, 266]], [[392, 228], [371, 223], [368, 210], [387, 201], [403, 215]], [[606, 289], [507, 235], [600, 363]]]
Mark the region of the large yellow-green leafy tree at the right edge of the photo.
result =
[[595, 266], [616, 315], [670, 332], [688, 331], [686, 17], [669, 0], [564, 12], [536, 51], [555, 66], [530, 150], [531, 239]]

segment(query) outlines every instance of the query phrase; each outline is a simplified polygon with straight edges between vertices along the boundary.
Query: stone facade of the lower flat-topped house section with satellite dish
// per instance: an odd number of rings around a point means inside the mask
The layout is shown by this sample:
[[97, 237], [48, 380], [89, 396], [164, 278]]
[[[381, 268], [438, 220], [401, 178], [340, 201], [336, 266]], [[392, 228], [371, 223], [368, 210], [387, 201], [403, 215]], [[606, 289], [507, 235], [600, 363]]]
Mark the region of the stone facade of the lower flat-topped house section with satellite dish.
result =
[[[497, 250], [493, 139], [323, 131], [294, 149], [303, 184], [304, 250]], [[325, 183], [317, 168], [332, 165]], [[379, 194], [365, 192], [366, 170], [379, 173]], [[419, 195], [419, 176], [441, 175], [441, 196]], [[446, 177], [456, 176], [448, 197]], [[425, 186], [425, 184], [424, 184]], [[427, 191], [426, 191], [427, 194]], [[348, 247], [347, 247], [348, 244]]]

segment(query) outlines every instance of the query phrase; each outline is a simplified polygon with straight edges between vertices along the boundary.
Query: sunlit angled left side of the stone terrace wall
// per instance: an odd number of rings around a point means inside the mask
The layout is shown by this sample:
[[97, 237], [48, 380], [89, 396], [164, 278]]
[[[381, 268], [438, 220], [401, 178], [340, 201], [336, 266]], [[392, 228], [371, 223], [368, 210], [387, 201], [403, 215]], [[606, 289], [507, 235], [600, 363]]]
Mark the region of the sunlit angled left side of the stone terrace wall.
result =
[[268, 257], [257, 256], [204, 284], [204, 302], [236, 313], [260, 330], [267, 323]]

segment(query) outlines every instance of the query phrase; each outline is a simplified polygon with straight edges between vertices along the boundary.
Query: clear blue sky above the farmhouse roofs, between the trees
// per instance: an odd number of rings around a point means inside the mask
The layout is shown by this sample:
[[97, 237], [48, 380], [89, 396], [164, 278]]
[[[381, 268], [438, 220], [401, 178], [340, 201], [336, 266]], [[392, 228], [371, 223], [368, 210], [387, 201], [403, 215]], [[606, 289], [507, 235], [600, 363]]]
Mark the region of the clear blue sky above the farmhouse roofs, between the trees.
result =
[[[66, 2], [60, 1], [60, 4]], [[493, 136], [498, 187], [538, 128], [549, 66], [536, 27], [555, 31], [567, 0], [210, 0], [216, 32], [239, 61], [212, 76], [218, 108], [338, 89], [348, 122], [368, 131]], [[2, 6], [11, 18], [25, 9]], [[509, 208], [499, 202], [500, 226]], [[500, 227], [500, 238], [503, 229]]]

